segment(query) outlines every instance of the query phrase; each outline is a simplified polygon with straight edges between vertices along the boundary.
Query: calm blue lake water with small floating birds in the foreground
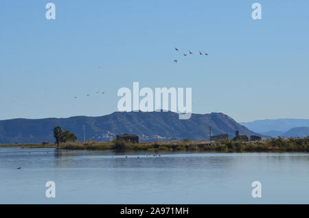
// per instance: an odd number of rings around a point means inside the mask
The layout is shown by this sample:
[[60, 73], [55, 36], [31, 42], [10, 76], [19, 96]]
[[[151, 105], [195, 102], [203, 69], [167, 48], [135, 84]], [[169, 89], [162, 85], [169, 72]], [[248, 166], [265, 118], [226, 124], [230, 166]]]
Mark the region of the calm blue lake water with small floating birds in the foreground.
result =
[[0, 204], [309, 204], [308, 153], [160, 155], [0, 148]]

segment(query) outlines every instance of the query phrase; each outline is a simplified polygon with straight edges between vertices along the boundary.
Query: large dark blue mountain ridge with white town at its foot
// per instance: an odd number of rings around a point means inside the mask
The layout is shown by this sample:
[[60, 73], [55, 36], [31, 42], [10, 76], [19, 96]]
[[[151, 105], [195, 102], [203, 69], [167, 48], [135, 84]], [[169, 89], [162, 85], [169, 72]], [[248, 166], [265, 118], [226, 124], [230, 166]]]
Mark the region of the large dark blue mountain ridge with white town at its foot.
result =
[[222, 113], [192, 114], [191, 119], [179, 120], [174, 112], [114, 112], [102, 117], [69, 117], [47, 119], [10, 119], [0, 121], [0, 143], [54, 143], [53, 129], [60, 125], [70, 130], [83, 141], [83, 128], [86, 126], [86, 139], [111, 141], [116, 134], [137, 134], [140, 141], [209, 140], [211, 134], [229, 134], [235, 131], [247, 136], [259, 135], [240, 125]]

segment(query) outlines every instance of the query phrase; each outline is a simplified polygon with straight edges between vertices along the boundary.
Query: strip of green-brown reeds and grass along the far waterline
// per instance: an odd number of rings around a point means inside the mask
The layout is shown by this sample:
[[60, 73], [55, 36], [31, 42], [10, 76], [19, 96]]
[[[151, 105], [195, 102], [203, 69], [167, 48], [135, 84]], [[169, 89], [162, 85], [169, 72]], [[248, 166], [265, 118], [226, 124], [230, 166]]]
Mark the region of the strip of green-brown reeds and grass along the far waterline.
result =
[[270, 138], [263, 141], [233, 141], [225, 139], [222, 141], [184, 141], [167, 142], [141, 142], [130, 143], [128, 141], [95, 142], [85, 143], [60, 143], [40, 145], [0, 145], [0, 147], [22, 147], [22, 148], [58, 148], [66, 150], [134, 150], [148, 152], [309, 152], [309, 136], [306, 138]]

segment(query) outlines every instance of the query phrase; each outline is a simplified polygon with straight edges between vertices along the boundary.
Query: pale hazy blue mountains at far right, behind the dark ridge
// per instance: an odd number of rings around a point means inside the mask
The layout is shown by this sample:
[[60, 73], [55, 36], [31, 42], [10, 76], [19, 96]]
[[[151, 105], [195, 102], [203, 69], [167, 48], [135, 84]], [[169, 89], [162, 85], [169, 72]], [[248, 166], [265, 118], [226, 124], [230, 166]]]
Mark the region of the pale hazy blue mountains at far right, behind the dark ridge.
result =
[[309, 136], [309, 119], [265, 119], [240, 124], [264, 136]]

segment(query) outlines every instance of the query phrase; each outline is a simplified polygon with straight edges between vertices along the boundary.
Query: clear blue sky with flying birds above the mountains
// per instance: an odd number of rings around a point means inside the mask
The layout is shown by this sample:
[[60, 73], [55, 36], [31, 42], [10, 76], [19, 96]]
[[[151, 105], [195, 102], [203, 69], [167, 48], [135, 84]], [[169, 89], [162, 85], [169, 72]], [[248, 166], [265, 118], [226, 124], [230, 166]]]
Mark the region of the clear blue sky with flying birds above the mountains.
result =
[[308, 23], [305, 0], [1, 0], [0, 119], [102, 116], [133, 82], [190, 87], [197, 113], [309, 119]]

